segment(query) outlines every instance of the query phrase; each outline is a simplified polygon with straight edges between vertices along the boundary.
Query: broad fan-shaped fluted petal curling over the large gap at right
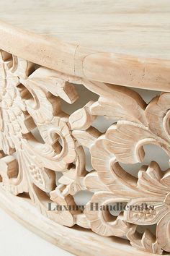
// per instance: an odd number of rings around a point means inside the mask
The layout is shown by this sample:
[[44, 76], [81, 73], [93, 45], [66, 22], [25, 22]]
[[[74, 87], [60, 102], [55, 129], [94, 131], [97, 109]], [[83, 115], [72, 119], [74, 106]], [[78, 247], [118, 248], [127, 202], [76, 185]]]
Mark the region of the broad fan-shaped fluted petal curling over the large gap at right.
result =
[[[130, 121], [118, 121], [117, 125], [112, 125], [107, 130], [106, 137], [112, 141], [112, 145], [108, 147], [109, 151], [122, 163], [141, 162], [145, 155], [143, 145], [159, 145], [158, 138], [146, 127]], [[169, 146], [164, 140], [160, 140], [160, 144]]]

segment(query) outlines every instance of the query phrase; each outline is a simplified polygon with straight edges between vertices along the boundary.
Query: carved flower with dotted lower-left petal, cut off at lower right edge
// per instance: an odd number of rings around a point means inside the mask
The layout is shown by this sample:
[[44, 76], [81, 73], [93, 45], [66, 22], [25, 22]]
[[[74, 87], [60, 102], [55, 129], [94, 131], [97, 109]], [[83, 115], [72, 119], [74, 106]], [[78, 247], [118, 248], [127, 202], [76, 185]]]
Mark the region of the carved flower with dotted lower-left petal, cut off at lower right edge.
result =
[[[131, 199], [125, 220], [137, 225], [156, 226], [157, 242], [165, 251], [170, 251], [170, 172], [163, 175], [156, 163], [147, 171], [139, 171], [138, 197]], [[142, 196], [145, 195], [145, 196]], [[141, 205], [145, 205], [141, 209]], [[139, 207], [139, 209], [138, 209]], [[164, 237], [162, 234], [166, 234]]]

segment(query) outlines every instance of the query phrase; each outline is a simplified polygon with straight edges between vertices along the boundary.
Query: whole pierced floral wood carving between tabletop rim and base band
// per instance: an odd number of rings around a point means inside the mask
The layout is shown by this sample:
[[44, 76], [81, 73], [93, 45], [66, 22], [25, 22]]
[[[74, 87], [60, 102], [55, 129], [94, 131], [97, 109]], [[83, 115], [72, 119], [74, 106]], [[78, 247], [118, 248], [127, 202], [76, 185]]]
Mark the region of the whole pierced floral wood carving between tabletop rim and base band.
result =
[[[3, 187], [14, 195], [28, 193], [40, 212], [65, 226], [78, 224], [101, 236], [129, 239], [148, 252], [170, 252], [170, 171], [151, 161], [138, 178], [120, 163], [143, 161], [143, 145], [156, 144], [170, 155], [170, 94], [148, 105], [128, 88], [70, 77], [1, 51], [0, 55], [0, 174]], [[70, 116], [62, 102], [74, 103], [74, 84], [99, 95]], [[93, 127], [97, 116], [115, 119], [106, 132]], [[35, 136], [40, 133], [41, 141]], [[86, 171], [84, 147], [94, 170]], [[61, 178], [56, 184], [55, 174]], [[84, 210], [74, 195], [93, 192]], [[48, 210], [48, 202], [70, 210]], [[108, 205], [124, 203], [112, 216]], [[91, 204], [99, 209], [91, 210]], [[148, 208], [139, 208], [147, 204]], [[104, 209], [104, 206], [106, 209]], [[138, 226], [156, 224], [156, 234]]]

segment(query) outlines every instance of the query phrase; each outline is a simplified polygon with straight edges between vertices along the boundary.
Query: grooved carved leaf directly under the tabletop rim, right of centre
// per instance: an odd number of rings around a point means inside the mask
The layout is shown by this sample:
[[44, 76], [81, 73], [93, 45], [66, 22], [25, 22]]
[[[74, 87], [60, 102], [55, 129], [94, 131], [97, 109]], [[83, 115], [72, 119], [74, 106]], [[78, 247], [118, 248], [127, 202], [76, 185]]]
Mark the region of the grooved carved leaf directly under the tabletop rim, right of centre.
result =
[[147, 123], [144, 114], [146, 103], [135, 91], [103, 82], [84, 82], [84, 85], [101, 96], [91, 106], [91, 114]]

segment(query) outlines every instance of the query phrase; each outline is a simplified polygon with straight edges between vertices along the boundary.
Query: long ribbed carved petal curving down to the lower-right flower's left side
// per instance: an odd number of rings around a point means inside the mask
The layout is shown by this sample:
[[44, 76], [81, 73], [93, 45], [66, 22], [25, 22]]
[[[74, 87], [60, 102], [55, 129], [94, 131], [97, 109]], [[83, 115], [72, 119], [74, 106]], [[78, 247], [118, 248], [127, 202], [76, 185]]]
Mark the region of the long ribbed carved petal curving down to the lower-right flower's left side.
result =
[[111, 147], [112, 142], [102, 135], [90, 148], [91, 164], [97, 170], [99, 179], [115, 195], [129, 198], [138, 196], [135, 191], [137, 179], [124, 171], [117, 163], [115, 155], [109, 151]]

